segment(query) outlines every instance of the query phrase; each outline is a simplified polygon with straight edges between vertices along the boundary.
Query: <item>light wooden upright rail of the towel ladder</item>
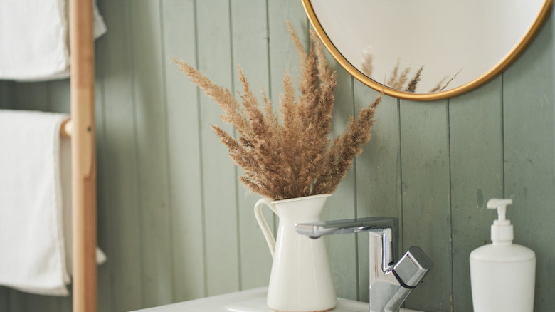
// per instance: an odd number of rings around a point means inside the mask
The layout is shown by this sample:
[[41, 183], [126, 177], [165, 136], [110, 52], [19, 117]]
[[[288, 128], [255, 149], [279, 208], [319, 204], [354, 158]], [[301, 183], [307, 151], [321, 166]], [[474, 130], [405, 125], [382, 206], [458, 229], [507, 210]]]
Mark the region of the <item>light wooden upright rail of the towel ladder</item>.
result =
[[73, 312], [97, 311], [93, 0], [70, 0]]

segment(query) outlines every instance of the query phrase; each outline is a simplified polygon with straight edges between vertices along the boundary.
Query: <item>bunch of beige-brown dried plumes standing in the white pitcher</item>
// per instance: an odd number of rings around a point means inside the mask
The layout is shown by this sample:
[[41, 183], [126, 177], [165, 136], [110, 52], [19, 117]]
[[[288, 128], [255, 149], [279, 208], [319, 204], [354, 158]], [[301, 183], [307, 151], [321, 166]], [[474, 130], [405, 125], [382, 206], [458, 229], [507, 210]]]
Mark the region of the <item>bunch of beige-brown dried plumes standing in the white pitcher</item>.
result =
[[212, 128], [228, 147], [231, 160], [243, 168], [240, 181], [251, 191], [274, 200], [334, 192], [354, 157], [362, 152], [362, 145], [369, 142], [374, 113], [381, 101], [379, 95], [361, 110], [356, 121], [350, 118], [342, 135], [333, 142], [329, 140], [336, 73], [327, 66], [314, 31], [310, 33], [310, 49], [306, 52], [292, 26], [287, 26], [300, 58], [302, 78], [300, 96], [295, 99], [295, 88], [285, 73], [284, 92], [280, 95], [281, 118], [272, 110], [262, 88], [263, 105], [259, 108], [240, 67], [241, 105], [230, 90], [174, 58], [191, 82], [220, 105], [224, 112], [222, 120], [235, 126], [237, 138], [217, 125]]

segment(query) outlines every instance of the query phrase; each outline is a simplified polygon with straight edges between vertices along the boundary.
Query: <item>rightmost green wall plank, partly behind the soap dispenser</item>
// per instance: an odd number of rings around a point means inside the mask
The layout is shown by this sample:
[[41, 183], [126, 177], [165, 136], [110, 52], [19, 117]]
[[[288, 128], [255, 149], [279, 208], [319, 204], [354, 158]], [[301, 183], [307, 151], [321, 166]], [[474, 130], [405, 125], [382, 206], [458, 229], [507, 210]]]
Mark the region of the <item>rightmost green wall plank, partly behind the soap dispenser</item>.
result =
[[555, 305], [554, 47], [550, 19], [524, 55], [504, 73], [505, 197], [514, 244], [536, 253], [534, 311]]

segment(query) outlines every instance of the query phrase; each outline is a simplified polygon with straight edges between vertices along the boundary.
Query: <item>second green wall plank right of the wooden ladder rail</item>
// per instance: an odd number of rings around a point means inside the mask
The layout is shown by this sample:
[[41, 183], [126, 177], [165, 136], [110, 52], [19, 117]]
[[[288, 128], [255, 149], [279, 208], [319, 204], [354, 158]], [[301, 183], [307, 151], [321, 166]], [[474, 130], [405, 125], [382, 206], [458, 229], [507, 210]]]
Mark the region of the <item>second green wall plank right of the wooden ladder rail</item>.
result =
[[171, 303], [171, 227], [162, 22], [158, 1], [129, 1], [133, 99], [137, 119], [144, 306]]

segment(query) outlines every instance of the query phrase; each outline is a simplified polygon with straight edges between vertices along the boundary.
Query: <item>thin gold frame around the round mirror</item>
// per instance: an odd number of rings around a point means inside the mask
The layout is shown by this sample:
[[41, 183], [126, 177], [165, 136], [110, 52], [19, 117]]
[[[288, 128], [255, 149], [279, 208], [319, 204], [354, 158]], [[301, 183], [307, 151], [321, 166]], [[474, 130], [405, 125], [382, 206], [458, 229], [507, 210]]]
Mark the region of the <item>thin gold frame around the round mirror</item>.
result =
[[329, 40], [327, 34], [322, 28], [322, 25], [319, 23], [316, 14], [314, 13], [314, 9], [312, 8], [312, 4], [310, 0], [302, 0], [302, 5], [305, 7], [305, 11], [307, 13], [308, 19], [310, 20], [310, 24], [314, 27], [314, 31], [316, 31], [319, 38], [324, 43], [324, 46], [327, 48], [329, 53], [335, 58], [339, 64], [345, 68], [354, 78], [361, 81], [365, 85], [368, 85], [370, 88], [374, 90], [384, 90], [386, 95], [393, 96], [394, 98], [401, 98], [403, 100], [415, 100], [415, 101], [432, 101], [432, 100], [443, 100], [446, 98], [454, 98], [458, 95], [462, 95], [463, 93], [470, 92], [481, 85], [485, 85], [486, 83], [490, 82], [493, 78], [497, 77], [500, 73], [505, 71], [509, 66], [511, 66], [514, 61], [519, 58], [519, 56], [526, 51], [530, 43], [534, 40], [536, 35], [541, 30], [541, 27], [544, 26], [549, 14], [551, 14], [551, 3], [552, 0], [546, 0], [544, 5], [541, 7], [539, 14], [536, 16], [534, 20], [534, 24], [528, 29], [527, 33], [522, 37], [522, 39], [517, 43], [514, 48], [512, 48], [509, 53], [507, 53], [501, 61], [497, 62], [495, 66], [490, 68], [487, 72], [483, 73], [478, 78], [471, 80], [469, 83], [465, 83], [464, 85], [460, 85], [457, 88], [453, 88], [450, 90], [441, 91], [438, 93], [408, 93], [400, 90], [396, 90], [393, 88], [389, 88], [381, 83], [372, 80], [368, 76], [361, 73], [358, 69], [347, 61], [346, 58], [340, 53], [337, 48], [334, 46], [331, 40]]

